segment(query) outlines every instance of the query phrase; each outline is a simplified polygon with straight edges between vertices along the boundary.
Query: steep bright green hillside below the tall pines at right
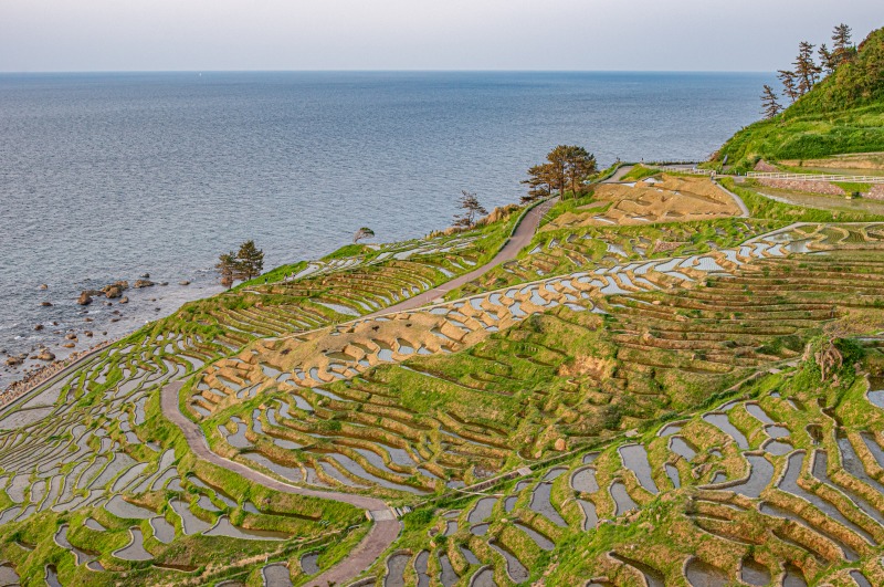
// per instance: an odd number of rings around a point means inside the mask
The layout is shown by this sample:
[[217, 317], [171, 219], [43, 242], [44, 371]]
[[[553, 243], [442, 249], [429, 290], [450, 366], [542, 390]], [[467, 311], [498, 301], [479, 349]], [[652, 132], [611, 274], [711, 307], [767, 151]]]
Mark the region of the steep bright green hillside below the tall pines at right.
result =
[[818, 159], [884, 150], [884, 29], [778, 116], [734, 135], [714, 161], [737, 169], [766, 160]]

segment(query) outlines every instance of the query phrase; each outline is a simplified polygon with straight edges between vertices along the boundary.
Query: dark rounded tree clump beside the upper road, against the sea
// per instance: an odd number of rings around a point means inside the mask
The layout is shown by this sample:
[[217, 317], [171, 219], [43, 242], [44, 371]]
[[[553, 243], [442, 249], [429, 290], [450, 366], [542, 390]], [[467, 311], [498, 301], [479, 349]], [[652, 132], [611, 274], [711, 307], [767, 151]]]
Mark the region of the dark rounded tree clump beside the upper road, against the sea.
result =
[[546, 161], [528, 169], [528, 193], [523, 202], [546, 198], [554, 191], [565, 197], [566, 190], [575, 198], [587, 191], [586, 181], [598, 170], [596, 156], [577, 145], [559, 145], [546, 156]]

